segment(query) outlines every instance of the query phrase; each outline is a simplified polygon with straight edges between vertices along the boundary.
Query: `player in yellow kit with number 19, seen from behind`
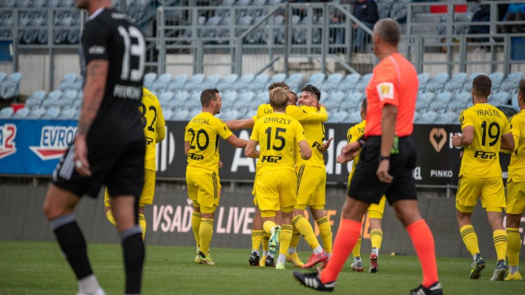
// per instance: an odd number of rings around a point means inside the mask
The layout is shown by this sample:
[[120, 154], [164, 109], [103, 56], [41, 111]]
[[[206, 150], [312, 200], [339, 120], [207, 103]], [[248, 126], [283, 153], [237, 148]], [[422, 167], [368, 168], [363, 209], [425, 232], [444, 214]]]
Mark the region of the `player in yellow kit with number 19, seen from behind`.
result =
[[498, 256], [496, 270], [490, 280], [502, 281], [508, 273], [506, 264], [507, 233], [503, 228], [501, 211], [505, 209], [505, 192], [499, 164], [499, 150], [512, 151], [514, 139], [505, 114], [487, 103], [492, 83], [485, 75], [472, 81], [474, 106], [459, 114], [461, 135], [455, 134], [452, 144], [465, 148], [456, 194], [456, 213], [461, 239], [472, 255], [470, 278], [478, 279], [485, 268], [478, 237], [470, 217], [481, 197], [493, 231], [493, 242]]

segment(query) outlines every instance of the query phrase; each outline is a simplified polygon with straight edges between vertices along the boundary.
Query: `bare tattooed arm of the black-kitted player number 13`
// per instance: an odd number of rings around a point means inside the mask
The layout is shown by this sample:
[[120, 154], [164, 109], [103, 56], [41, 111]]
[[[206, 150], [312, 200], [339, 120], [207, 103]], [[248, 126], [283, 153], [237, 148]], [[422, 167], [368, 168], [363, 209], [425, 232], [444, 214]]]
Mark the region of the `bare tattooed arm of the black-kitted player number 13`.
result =
[[97, 117], [100, 104], [102, 103], [108, 79], [108, 68], [109, 61], [96, 59], [89, 62], [86, 70], [86, 85], [83, 90], [83, 102], [75, 138], [76, 169], [78, 173], [86, 177], [91, 175], [87, 159], [86, 136], [93, 120]]

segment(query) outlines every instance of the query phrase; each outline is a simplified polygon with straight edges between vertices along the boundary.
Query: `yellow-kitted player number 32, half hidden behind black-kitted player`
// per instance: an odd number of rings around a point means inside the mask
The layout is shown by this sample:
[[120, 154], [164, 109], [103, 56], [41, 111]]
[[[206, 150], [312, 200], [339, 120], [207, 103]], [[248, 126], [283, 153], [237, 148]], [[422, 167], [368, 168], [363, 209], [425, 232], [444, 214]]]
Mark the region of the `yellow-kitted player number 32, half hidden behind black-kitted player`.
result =
[[[144, 206], [153, 204], [155, 194], [155, 154], [156, 144], [161, 142], [166, 136], [164, 125], [164, 116], [162, 115], [161, 104], [159, 100], [145, 87], [142, 88], [142, 102], [139, 107], [142, 115], [142, 125], [144, 127], [144, 136], [146, 138], [146, 153], [144, 156], [144, 186], [139, 197], [139, 225], [142, 229], [142, 240], [146, 234], [146, 218], [144, 217]], [[108, 188], [104, 194], [104, 209], [106, 218], [113, 225], [117, 225], [111, 212], [110, 197]]]

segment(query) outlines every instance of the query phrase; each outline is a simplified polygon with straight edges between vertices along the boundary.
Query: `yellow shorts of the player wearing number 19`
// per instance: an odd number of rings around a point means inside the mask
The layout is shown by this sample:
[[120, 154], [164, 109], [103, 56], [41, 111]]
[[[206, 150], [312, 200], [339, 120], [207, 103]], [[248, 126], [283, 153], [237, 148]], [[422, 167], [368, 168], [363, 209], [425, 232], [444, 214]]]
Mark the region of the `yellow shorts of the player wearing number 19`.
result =
[[478, 204], [479, 197], [481, 197], [481, 205], [487, 211], [501, 212], [507, 207], [501, 177], [459, 177], [456, 208], [460, 212], [471, 213]]

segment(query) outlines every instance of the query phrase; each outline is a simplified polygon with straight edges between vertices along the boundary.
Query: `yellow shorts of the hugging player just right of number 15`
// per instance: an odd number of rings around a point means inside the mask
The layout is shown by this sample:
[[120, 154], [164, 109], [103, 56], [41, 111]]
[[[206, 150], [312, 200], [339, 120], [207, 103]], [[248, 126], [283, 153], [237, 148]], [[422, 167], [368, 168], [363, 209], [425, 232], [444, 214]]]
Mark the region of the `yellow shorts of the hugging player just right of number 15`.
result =
[[296, 168], [297, 204], [296, 209], [323, 209], [327, 172], [321, 167], [301, 165]]

